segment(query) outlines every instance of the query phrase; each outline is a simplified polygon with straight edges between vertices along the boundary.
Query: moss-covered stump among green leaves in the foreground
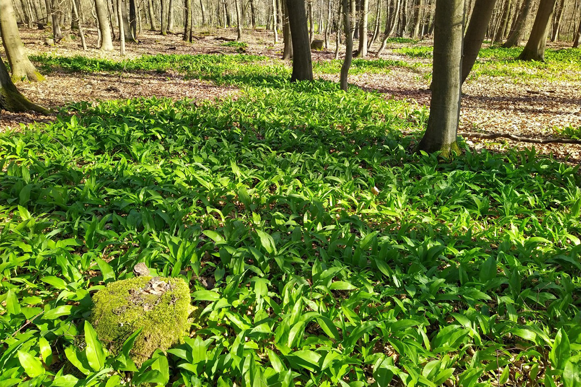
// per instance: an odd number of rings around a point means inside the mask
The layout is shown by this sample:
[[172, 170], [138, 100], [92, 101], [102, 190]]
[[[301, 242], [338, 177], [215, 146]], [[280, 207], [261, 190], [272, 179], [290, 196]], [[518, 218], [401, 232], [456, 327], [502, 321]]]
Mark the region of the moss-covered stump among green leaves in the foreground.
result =
[[114, 354], [125, 339], [143, 328], [131, 355], [139, 365], [156, 349], [166, 352], [189, 334], [190, 301], [188, 285], [182, 279], [134, 277], [98, 291], [90, 320], [99, 339]]

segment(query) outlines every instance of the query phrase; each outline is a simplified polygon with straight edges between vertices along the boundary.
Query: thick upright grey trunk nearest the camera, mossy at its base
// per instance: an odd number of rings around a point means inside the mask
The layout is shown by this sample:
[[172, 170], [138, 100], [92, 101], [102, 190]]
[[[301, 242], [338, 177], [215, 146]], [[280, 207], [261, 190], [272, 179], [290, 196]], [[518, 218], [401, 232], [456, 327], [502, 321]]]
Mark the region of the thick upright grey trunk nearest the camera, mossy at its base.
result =
[[418, 150], [459, 153], [456, 142], [460, 121], [462, 38], [465, 0], [436, 0], [434, 17], [432, 101], [428, 128]]

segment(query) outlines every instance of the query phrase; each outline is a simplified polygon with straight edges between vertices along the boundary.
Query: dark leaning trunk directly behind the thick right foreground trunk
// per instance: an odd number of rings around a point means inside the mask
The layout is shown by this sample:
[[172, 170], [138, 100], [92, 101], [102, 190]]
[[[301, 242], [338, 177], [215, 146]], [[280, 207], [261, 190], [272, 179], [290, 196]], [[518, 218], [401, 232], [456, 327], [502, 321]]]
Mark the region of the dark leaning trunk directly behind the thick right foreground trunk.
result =
[[462, 84], [470, 74], [482, 42], [486, 34], [486, 27], [492, 17], [496, 0], [476, 0], [472, 17], [464, 37], [464, 59], [462, 60]]

